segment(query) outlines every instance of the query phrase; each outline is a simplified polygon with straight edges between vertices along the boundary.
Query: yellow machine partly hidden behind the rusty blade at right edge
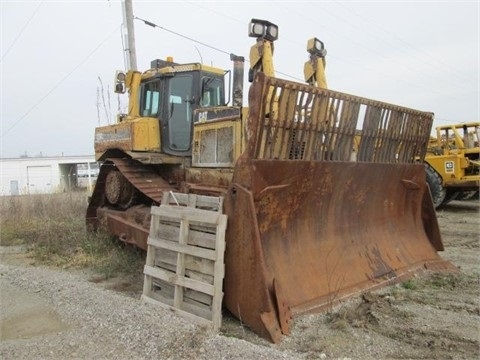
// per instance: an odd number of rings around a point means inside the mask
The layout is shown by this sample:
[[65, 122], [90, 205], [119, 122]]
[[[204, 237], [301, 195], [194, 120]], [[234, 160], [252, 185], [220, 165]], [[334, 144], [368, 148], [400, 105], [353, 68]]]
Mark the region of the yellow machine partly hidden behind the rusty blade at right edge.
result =
[[427, 182], [435, 208], [452, 200], [478, 198], [480, 123], [439, 126], [425, 156]]

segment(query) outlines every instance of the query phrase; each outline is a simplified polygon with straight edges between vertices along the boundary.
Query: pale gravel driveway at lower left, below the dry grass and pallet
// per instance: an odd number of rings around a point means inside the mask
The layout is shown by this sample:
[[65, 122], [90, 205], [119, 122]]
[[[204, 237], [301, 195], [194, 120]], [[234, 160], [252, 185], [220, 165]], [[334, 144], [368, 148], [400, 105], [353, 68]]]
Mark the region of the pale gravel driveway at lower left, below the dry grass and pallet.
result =
[[[29, 299], [17, 304], [17, 315], [28, 315], [29, 324], [17, 326], [13, 334], [11, 328], [2, 329], [0, 358], [5, 360], [301, 358], [211, 333], [167, 310], [105, 290], [81, 274], [13, 265], [0, 265], [0, 274], [2, 325], [9, 320], [7, 305]], [[21, 321], [17, 317], [15, 322]]]

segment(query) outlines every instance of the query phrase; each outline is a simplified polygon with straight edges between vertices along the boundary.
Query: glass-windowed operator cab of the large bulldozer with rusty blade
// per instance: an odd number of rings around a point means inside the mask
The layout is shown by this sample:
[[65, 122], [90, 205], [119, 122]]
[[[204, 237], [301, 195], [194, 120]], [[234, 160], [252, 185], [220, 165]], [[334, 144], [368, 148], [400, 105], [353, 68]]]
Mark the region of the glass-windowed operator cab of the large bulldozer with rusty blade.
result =
[[225, 74], [201, 64], [154, 60], [152, 69], [141, 75], [138, 100], [130, 96], [138, 105], [130, 105], [129, 116], [158, 119], [162, 153], [191, 155], [195, 111], [225, 106]]

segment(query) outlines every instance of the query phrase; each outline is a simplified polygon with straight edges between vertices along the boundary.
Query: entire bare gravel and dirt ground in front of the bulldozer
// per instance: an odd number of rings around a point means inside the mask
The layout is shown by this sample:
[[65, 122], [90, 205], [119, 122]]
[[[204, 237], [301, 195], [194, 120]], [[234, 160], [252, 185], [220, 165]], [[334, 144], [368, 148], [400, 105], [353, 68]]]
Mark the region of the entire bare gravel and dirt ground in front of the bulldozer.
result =
[[479, 208], [453, 202], [437, 213], [441, 255], [459, 274], [296, 317], [277, 345], [228, 314], [216, 334], [143, 303], [141, 274], [128, 292], [112, 291], [86, 272], [32, 266], [18, 248], [0, 247], [0, 359], [480, 359]]

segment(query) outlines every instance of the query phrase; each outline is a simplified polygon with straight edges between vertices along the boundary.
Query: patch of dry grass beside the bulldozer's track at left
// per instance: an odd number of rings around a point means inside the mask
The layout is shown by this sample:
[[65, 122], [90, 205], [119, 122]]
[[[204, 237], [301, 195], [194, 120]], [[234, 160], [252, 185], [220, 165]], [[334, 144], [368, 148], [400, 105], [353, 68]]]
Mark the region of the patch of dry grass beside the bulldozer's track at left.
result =
[[0, 197], [0, 245], [26, 245], [36, 261], [92, 268], [105, 278], [141, 271], [144, 253], [85, 228], [87, 194]]

